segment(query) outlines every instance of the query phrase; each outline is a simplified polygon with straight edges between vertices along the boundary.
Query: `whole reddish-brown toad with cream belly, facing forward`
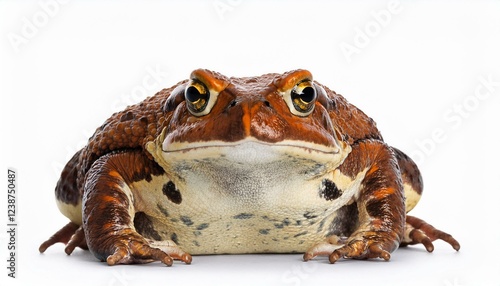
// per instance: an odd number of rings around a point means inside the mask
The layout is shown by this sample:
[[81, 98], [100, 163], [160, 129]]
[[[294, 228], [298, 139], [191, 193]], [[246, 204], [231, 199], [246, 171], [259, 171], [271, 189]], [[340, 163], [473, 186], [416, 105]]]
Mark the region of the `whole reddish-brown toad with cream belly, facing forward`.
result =
[[191, 255], [304, 253], [389, 260], [399, 246], [459, 243], [406, 215], [416, 164], [307, 70], [188, 80], [111, 116], [55, 189], [70, 222], [40, 246], [109, 265]]

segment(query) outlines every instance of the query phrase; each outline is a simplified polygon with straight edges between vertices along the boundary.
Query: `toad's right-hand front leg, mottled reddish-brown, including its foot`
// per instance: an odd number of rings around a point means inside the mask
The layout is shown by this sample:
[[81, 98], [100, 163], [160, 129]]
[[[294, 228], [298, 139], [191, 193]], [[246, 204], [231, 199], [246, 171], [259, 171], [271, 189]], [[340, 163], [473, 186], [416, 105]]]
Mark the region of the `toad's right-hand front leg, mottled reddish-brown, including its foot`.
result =
[[[342, 257], [389, 260], [390, 253], [399, 246], [405, 224], [401, 176], [392, 150], [379, 141], [360, 142], [353, 146], [339, 171], [350, 178], [339, 180], [347, 181], [343, 187], [359, 188], [354, 196], [358, 209], [356, 229], [352, 233], [335, 232], [325, 243], [308, 250], [304, 259], [326, 254], [331, 263]], [[362, 176], [359, 187], [356, 176]], [[334, 239], [344, 236], [347, 238]]]

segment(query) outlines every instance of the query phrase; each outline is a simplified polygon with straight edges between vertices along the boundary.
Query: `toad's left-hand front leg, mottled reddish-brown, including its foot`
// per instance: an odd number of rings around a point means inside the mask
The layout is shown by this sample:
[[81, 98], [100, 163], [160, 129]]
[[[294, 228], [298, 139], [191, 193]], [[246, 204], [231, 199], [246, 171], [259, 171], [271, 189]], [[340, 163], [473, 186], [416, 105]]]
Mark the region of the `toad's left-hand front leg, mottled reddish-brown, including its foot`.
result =
[[112, 153], [98, 159], [87, 174], [83, 196], [83, 228], [89, 250], [109, 265], [173, 259], [191, 262], [174, 246], [160, 250], [134, 228], [134, 197], [129, 185], [159, 168], [140, 152]]

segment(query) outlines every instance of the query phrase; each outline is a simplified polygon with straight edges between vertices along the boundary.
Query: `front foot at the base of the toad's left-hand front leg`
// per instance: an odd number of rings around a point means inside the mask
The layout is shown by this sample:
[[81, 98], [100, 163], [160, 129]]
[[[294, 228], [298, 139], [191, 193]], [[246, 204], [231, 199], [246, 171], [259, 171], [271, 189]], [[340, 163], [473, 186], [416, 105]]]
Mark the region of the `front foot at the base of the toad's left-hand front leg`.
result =
[[192, 261], [191, 255], [180, 249], [171, 241], [158, 244], [161, 248], [156, 248], [155, 243], [150, 244], [142, 236], [135, 232], [123, 233], [112, 238], [113, 253], [106, 257], [108, 265], [149, 263], [160, 261], [171, 266], [173, 260], [181, 260], [186, 264]]

